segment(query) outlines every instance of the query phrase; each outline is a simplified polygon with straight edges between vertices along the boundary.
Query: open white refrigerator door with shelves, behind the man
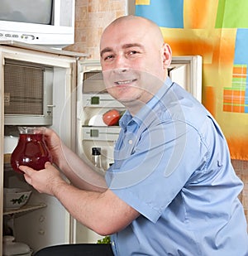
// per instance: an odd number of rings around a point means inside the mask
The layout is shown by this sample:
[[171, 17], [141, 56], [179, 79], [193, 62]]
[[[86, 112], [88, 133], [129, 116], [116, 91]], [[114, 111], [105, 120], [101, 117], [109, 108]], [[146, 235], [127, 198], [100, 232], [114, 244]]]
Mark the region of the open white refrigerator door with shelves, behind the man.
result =
[[[202, 100], [202, 57], [174, 56], [169, 68], [169, 77], [188, 90], [201, 102]], [[101, 147], [103, 169], [107, 171], [113, 162], [113, 147], [120, 128], [98, 124], [98, 118], [109, 109], [122, 112], [124, 106], [112, 98], [103, 84], [99, 60], [79, 62], [77, 89], [77, 147], [80, 157], [91, 162], [92, 147]], [[95, 118], [95, 124], [91, 121]], [[90, 124], [90, 125], [89, 125]], [[101, 236], [74, 220], [74, 242], [96, 243]]]

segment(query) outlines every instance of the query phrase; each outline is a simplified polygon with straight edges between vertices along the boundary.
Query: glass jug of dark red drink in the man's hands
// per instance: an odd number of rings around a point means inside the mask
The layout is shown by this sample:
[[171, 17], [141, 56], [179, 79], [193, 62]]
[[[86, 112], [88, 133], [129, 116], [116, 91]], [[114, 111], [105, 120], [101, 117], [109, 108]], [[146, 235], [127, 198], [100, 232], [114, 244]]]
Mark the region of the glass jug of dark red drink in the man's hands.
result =
[[45, 162], [52, 162], [52, 157], [45, 144], [45, 128], [18, 127], [19, 140], [12, 152], [11, 165], [14, 171], [23, 173], [19, 166], [31, 167], [35, 170], [45, 168]]

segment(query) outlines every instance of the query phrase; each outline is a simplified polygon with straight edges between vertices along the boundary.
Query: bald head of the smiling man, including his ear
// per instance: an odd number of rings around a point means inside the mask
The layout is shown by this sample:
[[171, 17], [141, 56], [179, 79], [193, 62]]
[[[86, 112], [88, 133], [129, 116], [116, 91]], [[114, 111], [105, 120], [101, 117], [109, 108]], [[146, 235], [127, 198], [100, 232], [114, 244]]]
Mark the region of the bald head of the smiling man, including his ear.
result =
[[100, 52], [107, 90], [127, 108], [152, 98], [171, 62], [160, 27], [143, 17], [126, 16], [112, 22], [103, 31]]

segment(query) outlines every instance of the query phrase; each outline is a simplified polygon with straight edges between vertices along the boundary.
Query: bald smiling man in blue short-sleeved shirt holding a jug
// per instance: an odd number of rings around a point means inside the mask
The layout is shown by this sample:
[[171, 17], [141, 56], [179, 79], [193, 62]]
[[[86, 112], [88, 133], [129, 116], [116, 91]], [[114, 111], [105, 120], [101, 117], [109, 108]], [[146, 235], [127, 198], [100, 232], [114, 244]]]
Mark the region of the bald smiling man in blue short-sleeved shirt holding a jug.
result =
[[169, 80], [172, 53], [160, 28], [121, 17], [103, 31], [100, 51], [107, 91], [126, 106], [105, 180], [47, 129], [54, 162], [74, 186], [50, 163], [20, 167], [26, 181], [83, 225], [112, 234], [116, 255], [248, 255], [227, 142], [203, 105]]

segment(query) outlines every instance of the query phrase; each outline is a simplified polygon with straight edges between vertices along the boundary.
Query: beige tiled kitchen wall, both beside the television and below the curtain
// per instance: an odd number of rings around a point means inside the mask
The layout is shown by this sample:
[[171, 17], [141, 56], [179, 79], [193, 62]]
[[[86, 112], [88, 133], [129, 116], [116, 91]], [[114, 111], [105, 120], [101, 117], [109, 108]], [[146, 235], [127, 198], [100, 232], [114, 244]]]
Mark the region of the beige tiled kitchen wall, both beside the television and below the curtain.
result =
[[[75, 43], [64, 50], [84, 52], [98, 59], [103, 29], [115, 18], [134, 13], [134, 5], [135, 0], [76, 0]], [[245, 185], [240, 199], [248, 220], [248, 162], [233, 160], [232, 164]]]

